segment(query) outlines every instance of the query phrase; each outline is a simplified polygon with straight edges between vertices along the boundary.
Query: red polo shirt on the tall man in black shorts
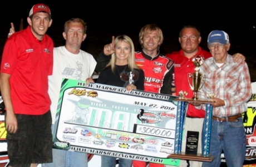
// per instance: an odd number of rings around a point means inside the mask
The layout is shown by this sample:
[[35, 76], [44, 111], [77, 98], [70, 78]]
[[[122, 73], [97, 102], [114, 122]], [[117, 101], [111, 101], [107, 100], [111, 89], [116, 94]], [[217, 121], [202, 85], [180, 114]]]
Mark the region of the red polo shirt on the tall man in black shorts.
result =
[[7, 40], [1, 73], [11, 75], [9, 83], [15, 114], [42, 115], [50, 110], [47, 92], [52, 65], [53, 42], [46, 34], [40, 42], [28, 26]]

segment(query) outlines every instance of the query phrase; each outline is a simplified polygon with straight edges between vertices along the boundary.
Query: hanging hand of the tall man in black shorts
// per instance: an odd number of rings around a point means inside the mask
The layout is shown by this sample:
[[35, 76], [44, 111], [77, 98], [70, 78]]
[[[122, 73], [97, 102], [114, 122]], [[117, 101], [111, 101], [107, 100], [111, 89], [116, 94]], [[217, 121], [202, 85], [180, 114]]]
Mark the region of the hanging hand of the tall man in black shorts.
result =
[[15, 114], [11, 111], [6, 113], [6, 130], [9, 133], [16, 133], [18, 129], [18, 122]]

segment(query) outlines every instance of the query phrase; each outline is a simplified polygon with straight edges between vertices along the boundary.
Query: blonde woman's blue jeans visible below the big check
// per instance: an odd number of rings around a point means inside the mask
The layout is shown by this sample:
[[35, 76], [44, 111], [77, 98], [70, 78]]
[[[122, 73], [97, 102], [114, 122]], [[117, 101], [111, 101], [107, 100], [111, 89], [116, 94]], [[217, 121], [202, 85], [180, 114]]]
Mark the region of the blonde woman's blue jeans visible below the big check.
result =
[[[111, 156], [101, 156], [101, 167], [115, 167], [116, 166], [116, 158]], [[131, 159], [122, 159], [119, 158], [119, 167], [131, 167], [132, 160]]]

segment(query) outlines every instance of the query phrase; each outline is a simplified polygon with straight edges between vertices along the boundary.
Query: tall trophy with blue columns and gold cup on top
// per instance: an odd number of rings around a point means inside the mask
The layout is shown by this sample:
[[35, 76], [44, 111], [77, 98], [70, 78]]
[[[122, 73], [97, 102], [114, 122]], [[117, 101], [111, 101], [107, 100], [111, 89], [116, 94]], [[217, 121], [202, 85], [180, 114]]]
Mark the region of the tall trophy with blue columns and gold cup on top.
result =
[[[214, 93], [209, 92], [207, 94], [207, 99], [198, 99], [196, 95], [199, 90], [203, 87], [206, 75], [199, 73], [200, 66], [203, 64], [204, 59], [201, 55], [195, 55], [192, 58], [192, 62], [195, 64], [195, 72], [190, 74], [188, 73], [188, 82], [190, 88], [194, 92], [193, 98], [186, 98], [185, 96], [188, 94], [181, 90], [179, 92], [179, 97], [175, 100], [178, 102], [177, 105], [177, 117], [176, 117], [176, 131], [175, 131], [175, 151], [174, 154], [168, 156], [168, 158], [174, 159], [186, 159], [186, 160], [196, 160], [196, 161], [213, 161], [214, 157], [209, 154], [210, 150], [210, 135], [211, 135], [211, 118], [213, 117], [213, 106], [211, 105], [210, 99], [215, 97]], [[186, 108], [188, 103], [193, 104], [201, 103], [206, 104], [205, 109], [205, 120], [204, 120], [204, 129], [202, 131], [202, 141], [199, 141], [199, 131], [188, 131], [186, 136], [186, 145], [185, 145], [185, 153], [181, 152], [182, 145], [182, 132], [183, 126], [186, 121]], [[198, 143], [202, 143], [202, 154], [198, 153]]]

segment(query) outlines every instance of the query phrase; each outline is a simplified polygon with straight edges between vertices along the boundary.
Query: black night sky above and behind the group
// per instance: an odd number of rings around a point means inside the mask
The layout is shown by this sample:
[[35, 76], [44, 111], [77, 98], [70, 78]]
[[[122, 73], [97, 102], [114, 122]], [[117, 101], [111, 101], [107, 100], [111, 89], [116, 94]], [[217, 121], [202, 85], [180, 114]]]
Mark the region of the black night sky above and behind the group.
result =
[[73, 17], [82, 18], [87, 23], [87, 37], [82, 50], [97, 56], [105, 44], [111, 42], [111, 36], [126, 34], [131, 37], [135, 49], [140, 50], [138, 36], [140, 29], [148, 23], [155, 23], [163, 30], [164, 43], [160, 47], [162, 54], [180, 50], [178, 41], [180, 29], [188, 24], [196, 26], [201, 32], [200, 46], [208, 50], [208, 34], [219, 29], [229, 34], [230, 54], [242, 53], [246, 57], [252, 80], [256, 80], [256, 10], [253, 2], [239, 1], [26, 1], [1, 2], [2, 24], [0, 31], [0, 52], [3, 51], [10, 23], [16, 31], [21, 18], [27, 27], [27, 16], [36, 3], [47, 4], [52, 13], [53, 23], [48, 29], [55, 47], [64, 45], [62, 37], [65, 21]]

